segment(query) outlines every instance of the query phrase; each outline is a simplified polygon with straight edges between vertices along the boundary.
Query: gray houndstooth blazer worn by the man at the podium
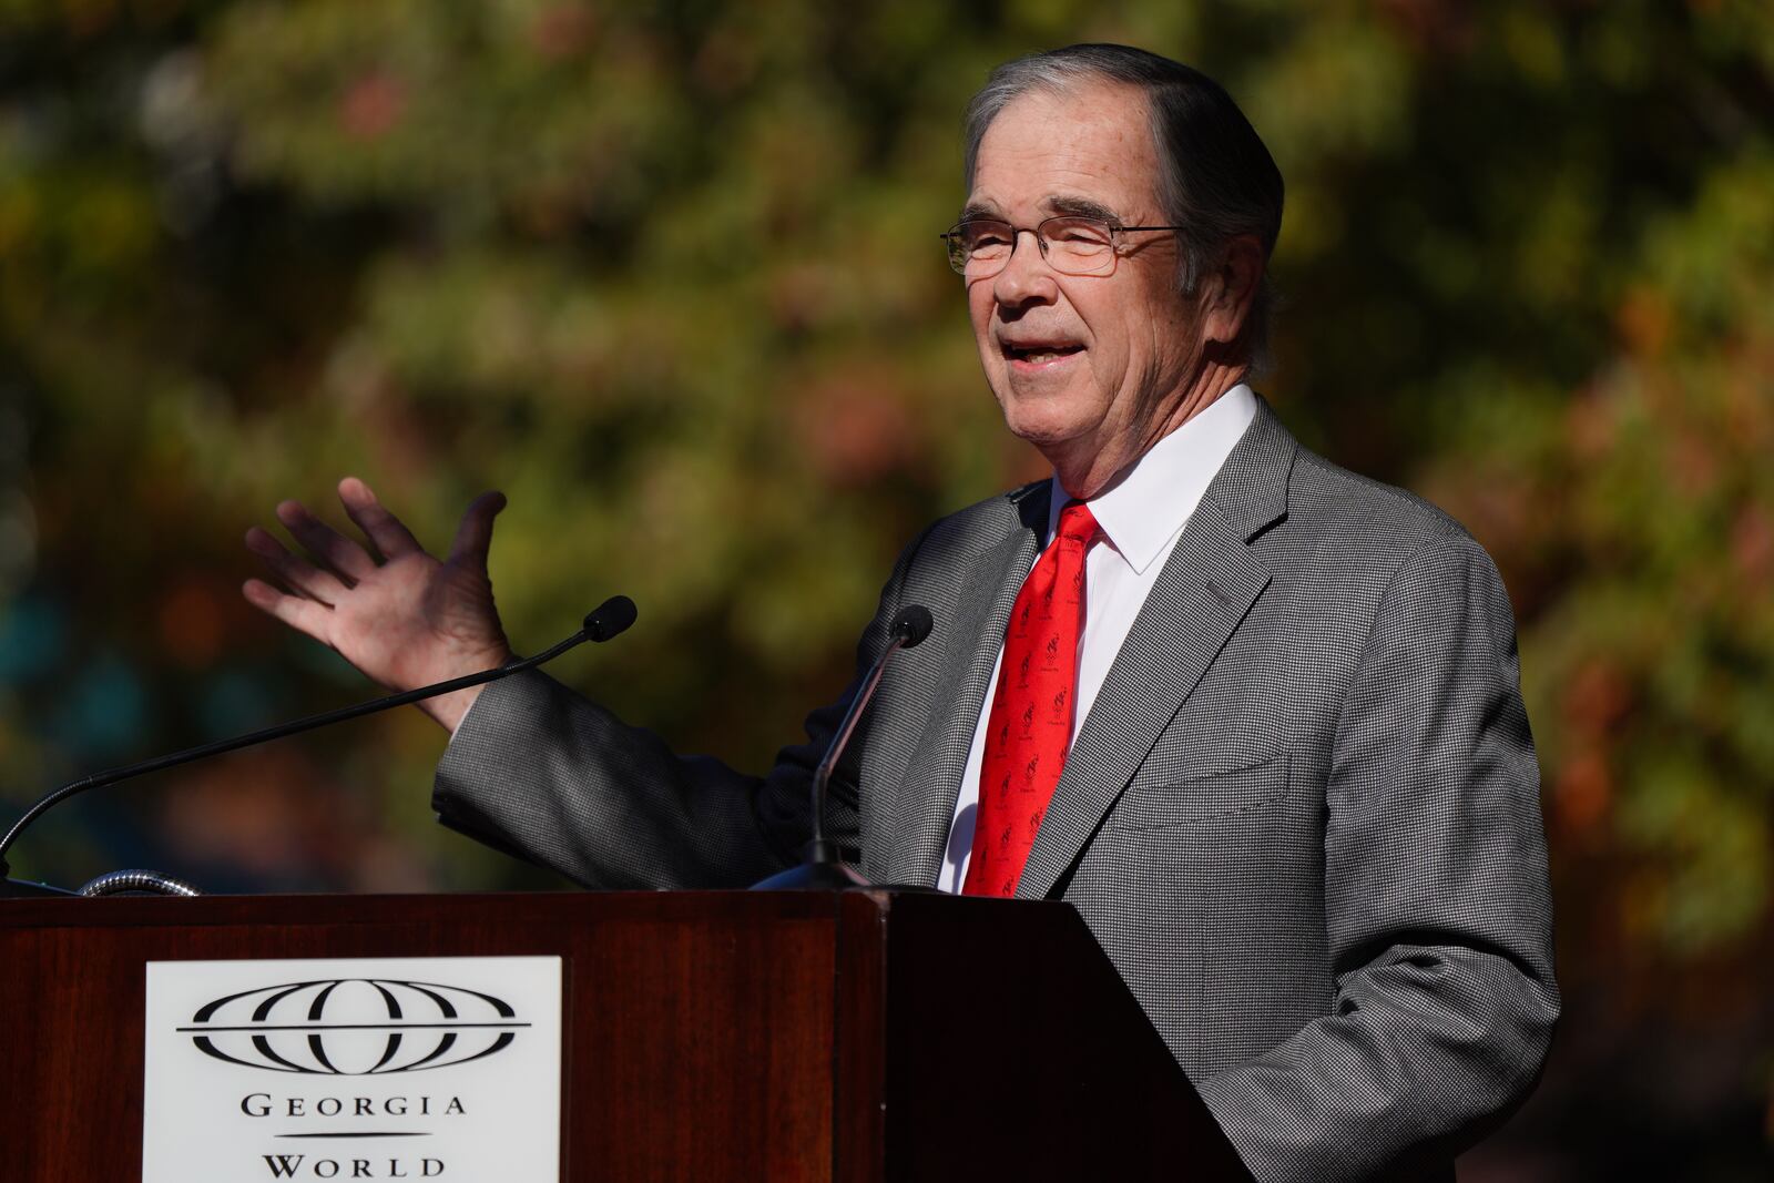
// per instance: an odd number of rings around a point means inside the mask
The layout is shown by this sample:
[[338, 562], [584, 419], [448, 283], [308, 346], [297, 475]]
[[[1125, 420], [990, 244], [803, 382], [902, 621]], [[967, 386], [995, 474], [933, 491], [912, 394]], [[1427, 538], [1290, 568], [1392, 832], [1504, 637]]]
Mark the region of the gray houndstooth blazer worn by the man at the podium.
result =
[[[875, 881], [935, 881], [1047, 490], [931, 525], [862, 637], [859, 669], [903, 605], [937, 621], [834, 777], [830, 832]], [[585, 885], [743, 885], [795, 862], [848, 699], [757, 779], [525, 674], [470, 711], [433, 800]], [[1260, 404], [1079, 731], [1018, 896], [1082, 913], [1256, 1178], [1449, 1174], [1533, 1087], [1559, 1009], [1488, 555]]]

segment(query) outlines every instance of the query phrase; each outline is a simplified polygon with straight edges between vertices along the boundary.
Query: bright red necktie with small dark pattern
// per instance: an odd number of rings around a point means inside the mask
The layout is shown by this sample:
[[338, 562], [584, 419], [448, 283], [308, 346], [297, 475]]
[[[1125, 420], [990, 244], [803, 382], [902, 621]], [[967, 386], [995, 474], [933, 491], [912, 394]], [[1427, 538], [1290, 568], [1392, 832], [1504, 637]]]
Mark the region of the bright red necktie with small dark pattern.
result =
[[997, 695], [979, 766], [979, 812], [967, 896], [1013, 896], [1034, 832], [1066, 766], [1084, 631], [1084, 553], [1100, 529], [1084, 502], [1059, 511], [1054, 544], [1036, 560], [1004, 630]]

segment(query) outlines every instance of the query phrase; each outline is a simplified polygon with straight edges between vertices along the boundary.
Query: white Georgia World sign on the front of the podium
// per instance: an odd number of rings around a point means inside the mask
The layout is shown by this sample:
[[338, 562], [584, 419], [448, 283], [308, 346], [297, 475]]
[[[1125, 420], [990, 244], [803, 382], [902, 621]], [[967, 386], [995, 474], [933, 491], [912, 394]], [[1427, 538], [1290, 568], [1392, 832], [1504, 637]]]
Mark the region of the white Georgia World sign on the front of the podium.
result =
[[561, 1178], [561, 958], [151, 961], [144, 1183]]

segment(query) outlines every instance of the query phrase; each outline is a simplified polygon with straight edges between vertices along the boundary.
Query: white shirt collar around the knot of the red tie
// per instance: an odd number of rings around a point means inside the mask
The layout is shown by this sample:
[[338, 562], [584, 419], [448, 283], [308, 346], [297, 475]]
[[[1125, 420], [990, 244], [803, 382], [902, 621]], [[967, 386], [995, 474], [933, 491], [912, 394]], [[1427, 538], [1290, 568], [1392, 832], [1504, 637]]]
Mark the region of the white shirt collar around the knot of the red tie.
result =
[[[1096, 525], [1135, 575], [1144, 575], [1189, 525], [1201, 495], [1254, 419], [1256, 392], [1238, 383], [1153, 443], [1121, 481], [1089, 502]], [[1070, 498], [1056, 475], [1047, 537], [1054, 537], [1059, 511]]]

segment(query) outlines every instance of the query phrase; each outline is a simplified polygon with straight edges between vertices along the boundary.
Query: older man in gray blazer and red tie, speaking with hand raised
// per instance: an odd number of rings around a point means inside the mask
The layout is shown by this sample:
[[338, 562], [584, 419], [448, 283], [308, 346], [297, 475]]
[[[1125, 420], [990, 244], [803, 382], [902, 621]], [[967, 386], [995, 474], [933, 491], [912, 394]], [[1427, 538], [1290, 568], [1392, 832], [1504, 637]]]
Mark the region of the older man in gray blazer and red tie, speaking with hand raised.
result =
[[[1226, 92], [1071, 46], [999, 67], [944, 234], [986, 383], [1054, 475], [928, 527], [859, 669], [928, 605], [834, 779], [876, 881], [1064, 899], [1260, 1179], [1446, 1176], [1558, 1016], [1515, 628], [1453, 520], [1302, 449], [1245, 385], [1281, 176]], [[294, 502], [247, 598], [376, 681], [509, 658], [493, 493], [445, 560], [360, 481], [380, 548]], [[474, 695], [479, 693], [475, 699]], [[444, 823], [594, 887], [793, 862], [844, 706], [750, 777], [543, 674], [426, 706]], [[470, 709], [472, 708], [472, 709]]]

